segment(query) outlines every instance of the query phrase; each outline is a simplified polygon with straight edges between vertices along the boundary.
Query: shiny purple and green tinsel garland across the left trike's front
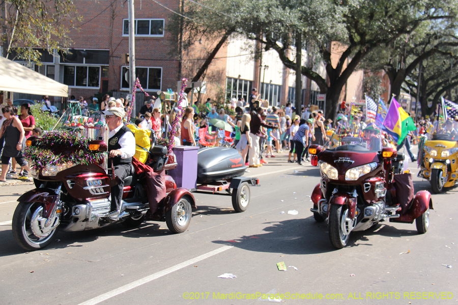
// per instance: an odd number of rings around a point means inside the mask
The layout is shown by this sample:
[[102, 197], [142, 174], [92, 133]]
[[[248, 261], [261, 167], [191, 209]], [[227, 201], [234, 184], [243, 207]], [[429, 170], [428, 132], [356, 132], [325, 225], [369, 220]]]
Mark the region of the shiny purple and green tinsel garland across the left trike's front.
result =
[[[105, 153], [89, 150], [89, 141], [78, 133], [51, 131], [37, 138], [34, 146], [25, 147], [23, 155], [33, 170], [63, 164], [68, 168], [69, 165], [100, 163]], [[69, 154], [54, 155], [52, 150], [43, 149], [44, 146], [67, 146], [73, 149]]]

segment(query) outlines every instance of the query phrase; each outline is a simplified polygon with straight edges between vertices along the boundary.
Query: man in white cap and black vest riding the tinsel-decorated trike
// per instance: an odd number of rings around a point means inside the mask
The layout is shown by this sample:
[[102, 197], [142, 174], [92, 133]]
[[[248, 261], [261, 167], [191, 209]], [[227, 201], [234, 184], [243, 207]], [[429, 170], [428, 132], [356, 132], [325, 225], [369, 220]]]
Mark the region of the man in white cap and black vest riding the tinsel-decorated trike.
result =
[[103, 111], [108, 134], [108, 166], [111, 162], [115, 168], [115, 176], [119, 178], [118, 184], [111, 187], [111, 210], [108, 214], [109, 221], [119, 220], [119, 211], [123, 197], [124, 179], [131, 172], [132, 157], [135, 155], [135, 137], [123, 124], [124, 110], [111, 108]]

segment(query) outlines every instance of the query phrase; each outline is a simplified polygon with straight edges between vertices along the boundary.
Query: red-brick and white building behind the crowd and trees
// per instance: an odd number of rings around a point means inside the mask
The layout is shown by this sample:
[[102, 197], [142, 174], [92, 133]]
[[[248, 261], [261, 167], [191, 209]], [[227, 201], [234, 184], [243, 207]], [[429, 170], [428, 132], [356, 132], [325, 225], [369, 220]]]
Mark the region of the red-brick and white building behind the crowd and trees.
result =
[[[177, 39], [168, 31], [167, 25], [174, 14], [171, 11], [180, 11], [181, 1], [161, 0], [160, 3], [163, 6], [153, 1], [135, 1], [136, 76], [149, 94], [169, 88], [177, 91], [177, 81], [181, 77], [191, 79], [216, 43], [195, 43], [183, 52], [180, 65], [177, 45], [174, 44]], [[127, 2], [74, 0], [74, 5], [83, 20], [73, 24], [75, 29], [69, 34], [73, 44], [69, 53], [51, 51], [49, 54], [43, 50], [42, 66], [27, 65], [67, 84], [69, 95], [90, 98], [113, 92], [113, 96], [125, 97], [129, 94], [128, 64], [122, 62], [123, 55], [129, 52]], [[255, 50], [262, 50], [262, 46], [230, 37], [201, 78], [205, 82], [201, 94], [198, 94], [198, 89], [194, 90], [193, 101], [239, 97], [247, 100], [251, 88], [256, 87], [261, 98], [269, 101], [269, 106], [294, 104], [295, 72], [283, 66], [275, 51], [263, 51], [261, 58], [255, 58]], [[306, 51], [302, 52], [305, 65], [308, 58]], [[291, 58], [294, 58], [294, 53], [292, 50]], [[318, 73], [325, 75], [324, 66], [317, 69]], [[355, 88], [361, 86], [360, 82], [360, 79], [356, 81]], [[318, 93], [318, 86], [302, 76], [302, 104], [317, 104]], [[341, 99], [352, 98], [353, 93], [353, 89], [348, 90], [347, 96], [342, 93]]]

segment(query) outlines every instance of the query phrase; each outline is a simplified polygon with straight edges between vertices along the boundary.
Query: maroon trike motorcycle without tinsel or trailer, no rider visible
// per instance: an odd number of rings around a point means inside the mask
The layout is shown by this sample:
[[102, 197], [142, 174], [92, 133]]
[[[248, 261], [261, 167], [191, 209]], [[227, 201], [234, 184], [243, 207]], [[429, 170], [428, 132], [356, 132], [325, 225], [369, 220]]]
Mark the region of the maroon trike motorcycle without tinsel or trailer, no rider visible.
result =
[[379, 132], [364, 131], [362, 138], [345, 137], [333, 149], [310, 145], [311, 163], [321, 182], [311, 195], [313, 217], [327, 221], [332, 245], [344, 248], [352, 231], [379, 222], [416, 222], [419, 233], [429, 226], [433, 208], [430, 192], [414, 194], [412, 174], [403, 173], [404, 155], [383, 147]]

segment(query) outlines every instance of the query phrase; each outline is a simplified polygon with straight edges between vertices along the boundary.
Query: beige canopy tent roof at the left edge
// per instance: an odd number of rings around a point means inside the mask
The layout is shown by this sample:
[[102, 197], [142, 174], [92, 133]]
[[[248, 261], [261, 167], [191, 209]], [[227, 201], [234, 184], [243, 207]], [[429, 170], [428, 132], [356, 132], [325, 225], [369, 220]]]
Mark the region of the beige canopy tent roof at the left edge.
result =
[[56, 82], [5, 57], [0, 57], [0, 90], [68, 97], [68, 86]]

